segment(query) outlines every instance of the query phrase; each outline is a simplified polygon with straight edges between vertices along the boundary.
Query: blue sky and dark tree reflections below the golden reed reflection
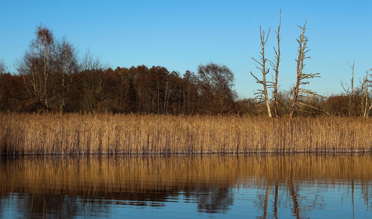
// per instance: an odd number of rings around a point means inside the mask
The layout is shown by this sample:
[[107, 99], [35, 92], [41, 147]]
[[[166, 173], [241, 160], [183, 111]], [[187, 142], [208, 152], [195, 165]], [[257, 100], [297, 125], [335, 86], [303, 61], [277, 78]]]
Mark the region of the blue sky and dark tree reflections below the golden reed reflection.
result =
[[[293, 184], [279, 183], [277, 217], [296, 218], [291, 186], [298, 203], [298, 218], [371, 218], [371, 201], [367, 200], [372, 193], [366, 184], [360, 181], [338, 182], [297, 182]], [[371, 182], [369, 182], [371, 186]], [[1, 218], [59, 218], [61, 214], [73, 218], [263, 218], [266, 200], [266, 218], [275, 218], [276, 184], [271, 183], [270, 193], [263, 184], [249, 187], [235, 186], [224, 189], [198, 187], [195, 191], [179, 191], [168, 194], [165, 199], [155, 200], [113, 200], [105, 197], [91, 198], [67, 195], [32, 195], [22, 193], [1, 194]], [[151, 191], [153, 193], [154, 191]], [[222, 195], [221, 195], [222, 194]], [[32, 197], [33, 196], [33, 197]], [[37, 197], [39, 200], [36, 200]], [[137, 197], [136, 195], [134, 197]], [[370, 197], [372, 198], [372, 197]], [[41, 204], [33, 215], [30, 214], [29, 204]], [[221, 200], [217, 200], [221, 199]], [[230, 200], [232, 199], [232, 200]], [[369, 205], [367, 206], [367, 201]], [[53, 203], [52, 203], [53, 202]], [[206, 203], [203, 203], [206, 202]], [[201, 209], [211, 207], [212, 209]], [[225, 203], [219, 206], [218, 203]], [[209, 205], [211, 204], [211, 205]], [[25, 209], [22, 209], [22, 206]], [[74, 206], [72, 209], [71, 206]], [[36, 206], [33, 206], [36, 208]], [[54, 209], [53, 209], [54, 208]]]

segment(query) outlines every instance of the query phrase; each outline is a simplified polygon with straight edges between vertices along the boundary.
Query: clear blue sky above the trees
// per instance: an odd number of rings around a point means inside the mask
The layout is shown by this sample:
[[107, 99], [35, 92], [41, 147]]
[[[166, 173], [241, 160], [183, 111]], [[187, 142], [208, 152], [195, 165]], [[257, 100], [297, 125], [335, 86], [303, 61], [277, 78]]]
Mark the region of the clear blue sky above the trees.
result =
[[66, 35], [84, 51], [99, 55], [115, 69], [144, 64], [183, 74], [213, 61], [235, 73], [243, 97], [260, 88], [251, 57], [260, 51], [259, 26], [268, 30], [267, 58], [273, 58], [274, 30], [282, 9], [279, 83], [295, 82], [296, 39], [307, 19], [309, 39], [305, 72], [320, 73], [306, 88], [340, 93], [355, 61], [356, 80], [372, 68], [372, 1], [6, 1], [0, 2], [0, 58], [9, 66], [23, 55], [36, 26], [55, 37]]

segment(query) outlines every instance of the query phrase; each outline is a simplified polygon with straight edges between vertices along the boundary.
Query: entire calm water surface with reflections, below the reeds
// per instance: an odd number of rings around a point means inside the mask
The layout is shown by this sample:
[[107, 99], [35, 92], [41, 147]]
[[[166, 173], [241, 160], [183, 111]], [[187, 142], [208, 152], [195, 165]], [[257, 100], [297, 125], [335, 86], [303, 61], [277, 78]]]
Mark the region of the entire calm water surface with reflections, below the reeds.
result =
[[372, 218], [371, 155], [0, 160], [0, 218]]

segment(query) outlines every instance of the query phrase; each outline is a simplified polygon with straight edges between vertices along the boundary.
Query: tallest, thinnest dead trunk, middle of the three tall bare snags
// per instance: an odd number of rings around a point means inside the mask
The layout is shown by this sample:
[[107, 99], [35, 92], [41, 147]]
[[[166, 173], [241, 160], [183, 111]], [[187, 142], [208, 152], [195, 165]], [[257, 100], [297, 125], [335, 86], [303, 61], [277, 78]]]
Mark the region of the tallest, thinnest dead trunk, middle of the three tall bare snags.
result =
[[275, 52], [275, 60], [274, 63], [270, 62], [270, 65], [275, 70], [275, 79], [273, 79], [273, 87], [274, 87], [274, 108], [275, 108], [275, 119], [278, 119], [278, 73], [279, 73], [279, 62], [280, 62], [280, 23], [282, 23], [282, 10], [279, 11], [279, 26], [278, 31], [275, 31], [276, 38], [278, 39], [278, 51], [274, 47]]

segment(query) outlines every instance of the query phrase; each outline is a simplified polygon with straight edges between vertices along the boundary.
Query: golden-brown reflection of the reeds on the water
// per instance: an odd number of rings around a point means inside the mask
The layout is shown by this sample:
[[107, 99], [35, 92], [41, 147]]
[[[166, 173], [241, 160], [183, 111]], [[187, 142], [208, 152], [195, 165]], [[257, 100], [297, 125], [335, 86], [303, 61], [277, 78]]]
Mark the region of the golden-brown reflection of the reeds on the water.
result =
[[23, 157], [0, 162], [0, 192], [90, 196], [268, 184], [370, 185], [371, 155]]

